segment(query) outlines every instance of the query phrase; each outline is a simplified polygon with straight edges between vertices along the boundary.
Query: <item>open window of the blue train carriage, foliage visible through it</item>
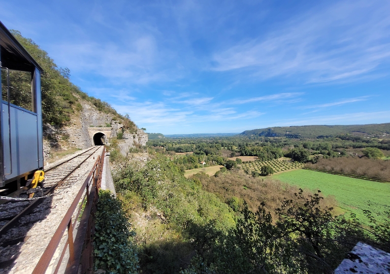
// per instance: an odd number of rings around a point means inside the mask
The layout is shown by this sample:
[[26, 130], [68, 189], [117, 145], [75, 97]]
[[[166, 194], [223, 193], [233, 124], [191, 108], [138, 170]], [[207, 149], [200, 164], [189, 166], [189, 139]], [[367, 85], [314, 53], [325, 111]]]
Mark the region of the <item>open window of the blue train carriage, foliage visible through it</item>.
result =
[[[10, 102], [23, 109], [32, 111], [31, 73], [21, 71], [9, 71]], [[3, 100], [7, 97], [7, 70], [2, 68], [2, 93]]]

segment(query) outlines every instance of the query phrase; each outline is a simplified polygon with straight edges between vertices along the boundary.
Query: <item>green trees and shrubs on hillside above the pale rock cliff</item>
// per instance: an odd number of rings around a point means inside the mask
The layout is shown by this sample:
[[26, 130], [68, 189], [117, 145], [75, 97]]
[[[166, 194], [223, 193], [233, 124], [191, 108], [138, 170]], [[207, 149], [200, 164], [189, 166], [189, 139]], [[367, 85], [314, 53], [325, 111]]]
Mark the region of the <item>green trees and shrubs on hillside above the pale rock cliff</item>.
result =
[[70, 70], [57, 67], [46, 51], [34, 41], [24, 38], [17, 30], [11, 30], [12, 35], [39, 63], [44, 72], [41, 74], [42, 115], [43, 122], [52, 125], [64, 125], [70, 120], [70, 115], [82, 109], [82, 100], [90, 102], [99, 111], [111, 114], [114, 118], [126, 124], [126, 127], [137, 128], [128, 119], [118, 114], [107, 102], [88, 96], [81, 88], [70, 81]]

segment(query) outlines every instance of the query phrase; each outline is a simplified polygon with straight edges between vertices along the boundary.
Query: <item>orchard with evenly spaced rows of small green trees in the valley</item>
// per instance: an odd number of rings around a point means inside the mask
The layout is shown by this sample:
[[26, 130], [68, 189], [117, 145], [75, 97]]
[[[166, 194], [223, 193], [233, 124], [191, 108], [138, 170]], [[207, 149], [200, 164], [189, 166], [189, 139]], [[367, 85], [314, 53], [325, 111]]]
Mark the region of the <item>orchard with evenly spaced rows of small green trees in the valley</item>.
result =
[[242, 169], [247, 170], [250, 174], [252, 171], [260, 173], [263, 165], [271, 166], [275, 172], [282, 172], [289, 169], [302, 168], [304, 164], [300, 162], [293, 162], [289, 158], [280, 158], [270, 161], [255, 161], [251, 163], [243, 163]]

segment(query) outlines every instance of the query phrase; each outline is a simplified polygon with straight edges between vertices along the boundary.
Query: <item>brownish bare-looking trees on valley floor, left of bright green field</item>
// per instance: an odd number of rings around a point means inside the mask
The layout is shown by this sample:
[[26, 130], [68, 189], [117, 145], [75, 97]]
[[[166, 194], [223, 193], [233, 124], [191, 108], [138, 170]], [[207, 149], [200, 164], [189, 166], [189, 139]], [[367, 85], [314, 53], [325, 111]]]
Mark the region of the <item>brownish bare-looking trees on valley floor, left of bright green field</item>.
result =
[[[261, 202], [266, 203], [266, 208], [271, 212], [275, 220], [274, 211], [280, 207], [284, 199], [296, 200], [295, 193], [299, 188], [274, 180], [270, 177], [247, 177], [242, 173], [226, 172], [218, 177], [209, 177], [206, 174], [197, 174], [193, 178], [201, 181], [206, 191], [215, 193], [223, 201], [228, 201], [232, 197], [238, 197], [245, 200], [248, 208], [257, 211]], [[305, 190], [304, 194], [312, 192]], [[322, 200], [323, 207], [336, 207], [336, 199], [329, 195]]]

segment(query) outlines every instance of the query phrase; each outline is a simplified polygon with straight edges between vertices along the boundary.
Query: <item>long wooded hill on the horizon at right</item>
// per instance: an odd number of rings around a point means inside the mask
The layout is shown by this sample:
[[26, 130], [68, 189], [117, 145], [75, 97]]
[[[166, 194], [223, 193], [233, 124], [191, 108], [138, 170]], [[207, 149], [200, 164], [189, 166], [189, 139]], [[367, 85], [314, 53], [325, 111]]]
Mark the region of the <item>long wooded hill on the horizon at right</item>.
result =
[[321, 138], [333, 137], [340, 134], [389, 137], [390, 123], [368, 125], [306, 125], [282, 126], [245, 130], [240, 133], [245, 136], [266, 136], [286, 138]]

